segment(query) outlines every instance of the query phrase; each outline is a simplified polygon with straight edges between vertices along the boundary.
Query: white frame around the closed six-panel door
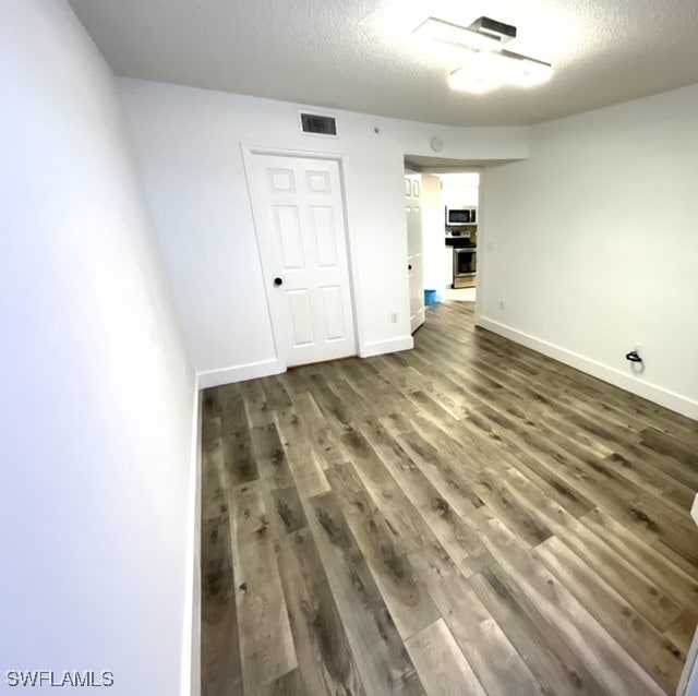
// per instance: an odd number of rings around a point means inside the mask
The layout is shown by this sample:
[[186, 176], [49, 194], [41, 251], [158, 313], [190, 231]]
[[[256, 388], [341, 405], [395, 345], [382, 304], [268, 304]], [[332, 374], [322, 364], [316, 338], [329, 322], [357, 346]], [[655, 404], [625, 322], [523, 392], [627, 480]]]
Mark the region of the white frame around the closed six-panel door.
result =
[[252, 212], [252, 221], [254, 225], [254, 237], [257, 247], [257, 259], [260, 262], [260, 271], [262, 272], [262, 281], [264, 284], [264, 297], [266, 300], [266, 311], [269, 319], [269, 326], [272, 327], [272, 337], [274, 339], [274, 352], [279, 367], [279, 372], [286, 372], [288, 370], [288, 355], [286, 350], [286, 341], [284, 336], [279, 333], [282, 327], [276, 326], [274, 322], [274, 315], [272, 313], [272, 303], [269, 301], [269, 291], [272, 288], [266, 281], [268, 274], [264, 267], [264, 259], [262, 257], [262, 245], [260, 244], [260, 220], [257, 219], [257, 212], [255, 211], [254, 197], [252, 194], [252, 163], [255, 155], [269, 155], [278, 157], [296, 157], [298, 159], [323, 159], [337, 163], [339, 170], [339, 190], [341, 193], [341, 209], [345, 227], [345, 247], [347, 250], [347, 274], [349, 277], [349, 298], [351, 300], [351, 317], [353, 320], [353, 345], [354, 355], [358, 356], [361, 346], [361, 323], [359, 321], [358, 303], [357, 303], [357, 277], [354, 273], [354, 242], [349, 228], [349, 217], [347, 211], [347, 187], [346, 187], [346, 156], [340, 153], [324, 153], [305, 149], [287, 149], [282, 147], [270, 147], [268, 145], [253, 145], [250, 143], [240, 143], [242, 151], [242, 161], [244, 165], [244, 175], [248, 184], [248, 197], [250, 201], [250, 209]]

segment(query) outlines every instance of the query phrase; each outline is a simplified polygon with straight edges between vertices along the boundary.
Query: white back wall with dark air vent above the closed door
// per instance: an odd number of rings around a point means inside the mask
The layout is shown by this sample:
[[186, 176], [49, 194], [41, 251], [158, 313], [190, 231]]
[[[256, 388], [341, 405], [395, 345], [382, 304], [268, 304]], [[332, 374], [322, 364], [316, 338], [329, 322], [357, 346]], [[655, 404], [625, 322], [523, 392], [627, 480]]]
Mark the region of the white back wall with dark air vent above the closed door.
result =
[[210, 373], [203, 384], [278, 370], [242, 145], [342, 157], [361, 355], [411, 345], [405, 154], [429, 155], [433, 135], [445, 157], [528, 154], [528, 128], [454, 129], [320, 109], [337, 117], [335, 140], [301, 133], [294, 104], [136, 80], [120, 80], [120, 91], [194, 364]]

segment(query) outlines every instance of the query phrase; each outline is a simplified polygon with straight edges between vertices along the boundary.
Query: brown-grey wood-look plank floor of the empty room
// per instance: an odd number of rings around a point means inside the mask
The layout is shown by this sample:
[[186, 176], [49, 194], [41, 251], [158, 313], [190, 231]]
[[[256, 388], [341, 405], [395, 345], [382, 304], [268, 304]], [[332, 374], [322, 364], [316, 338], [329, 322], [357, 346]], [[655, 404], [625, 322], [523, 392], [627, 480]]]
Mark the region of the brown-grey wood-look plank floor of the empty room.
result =
[[416, 349], [208, 389], [202, 679], [226, 694], [673, 693], [698, 423], [428, 310]]

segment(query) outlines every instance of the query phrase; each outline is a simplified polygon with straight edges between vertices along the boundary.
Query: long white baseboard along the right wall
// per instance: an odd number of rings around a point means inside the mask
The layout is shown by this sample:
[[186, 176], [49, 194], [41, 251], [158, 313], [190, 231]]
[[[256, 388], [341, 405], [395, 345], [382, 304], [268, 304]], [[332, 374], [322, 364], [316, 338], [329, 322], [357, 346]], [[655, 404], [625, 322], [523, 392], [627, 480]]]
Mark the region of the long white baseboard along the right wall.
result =
[[622, 372], [621, 370], [616, 370], [615, 368], [610, 368], [609, 365], [604, 365], [595, 360], [585, 358], [585, 356], [580, 356], [577, 352], [567, 350], [566, 348], [562, 348], [561, 346], [556, 346], [555, 344], [551, 344], [546, 340], [542, 340], [541, 338], [535, 338], [530, 334], [525, 334], [524, 332], [512, 328], [506, 324], [495, 322], [486, 316], [477, 316], [476, 324], [478, 326], [482, 326], [482, 328], [493, 332], [494, 334], [509, 338], [517, 344], [538, 350], [538, 352], [542, 352], [544, 356], [559, 360], [559, 362], [571, 365], [573, 368], [598, 377], [599, 380], [603, 380], [609, 384], [618, 386], [626, 392], [637, 394], [637, 396], [654, 401], [660, 406], [665, 406], [666, 408], [676, 411], [677, 413], [683, 413], [688, 418], [698, 419], [698, 401], [686, 396], [682, 396], [675, 392], [670, 392], [657, 384], [642, 382], [637, 377]]

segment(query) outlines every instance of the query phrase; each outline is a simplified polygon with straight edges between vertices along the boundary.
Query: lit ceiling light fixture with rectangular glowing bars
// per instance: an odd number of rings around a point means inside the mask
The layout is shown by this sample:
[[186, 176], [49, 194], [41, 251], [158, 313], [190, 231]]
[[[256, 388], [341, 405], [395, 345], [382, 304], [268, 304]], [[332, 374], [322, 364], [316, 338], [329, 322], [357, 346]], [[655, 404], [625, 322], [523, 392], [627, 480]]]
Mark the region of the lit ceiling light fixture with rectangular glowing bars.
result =
[[413, 34], [468, 49], [459, 55], [465, 64], [448, 76], [453, 89], [483, 94], [505, 84], [530, 87], [553, 73], [550, 63], [504, 50], [503, 45], [516, 38], [516, 27], [490, 17], [482, 16], [466, 27], [430, 16]]

